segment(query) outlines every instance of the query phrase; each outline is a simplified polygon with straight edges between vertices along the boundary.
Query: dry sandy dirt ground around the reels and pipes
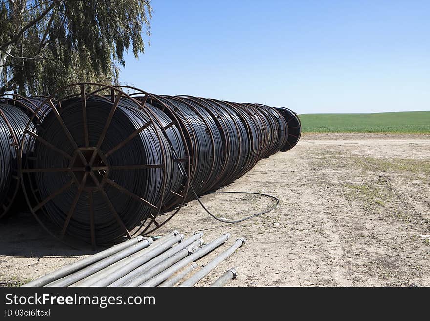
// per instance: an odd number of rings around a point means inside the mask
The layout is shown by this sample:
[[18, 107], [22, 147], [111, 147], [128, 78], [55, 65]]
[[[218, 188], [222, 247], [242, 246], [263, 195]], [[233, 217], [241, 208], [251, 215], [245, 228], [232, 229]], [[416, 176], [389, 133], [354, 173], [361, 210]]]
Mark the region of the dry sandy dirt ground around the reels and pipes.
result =
[[[190, 202], [153, 235], [205, 230], [247, 242], [198, 285], [230, 267], [229, 286], [430, 286], [430, 135], [305, 134], [286, 153], [261, 160], [221, 191], [267, 193], [275, 211], [225, 226]], [[220, 217], [237, 219], [273, 204], [264, 197], [202, 197]], [[28, 214], [0, 224], [0, 282], [21, 284], [91, 251], [46, 236]]]

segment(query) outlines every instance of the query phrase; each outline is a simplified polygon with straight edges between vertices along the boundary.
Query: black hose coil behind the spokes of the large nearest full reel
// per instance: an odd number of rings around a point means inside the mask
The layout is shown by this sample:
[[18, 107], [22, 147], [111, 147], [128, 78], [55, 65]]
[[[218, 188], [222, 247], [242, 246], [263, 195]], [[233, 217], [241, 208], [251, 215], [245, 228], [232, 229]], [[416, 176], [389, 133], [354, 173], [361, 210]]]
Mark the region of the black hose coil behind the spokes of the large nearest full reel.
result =
[[[84, 131], [82, 130], [82, 103], [80, 98], [70, 98], [62, 103], [61, 117], [72, 137], [78, 146], [85, 146]], [[108, 151], [127, 139], [130, 133], [149, 122], [148, 116], [138, 110], [138, 107], [131, 106], [132, 102], [125, 99], [119, 101], [115, 116], [112, 118], [105, 139], [100, 150]], [[100, 96], [91, 96], [86, 100], [87, 122], [88, 122], [88, 137], [89, 146], [97, 145], [98, 139], [102, 134], [105, 124], [108, 120], [108, 114], [112, 102], [107, 98]], [[43, 133], [39, 135], [46, 141], [53, 144], [56, 148], [63, 150], [69, 155], [75, 153], [74, 147], [66, 137], [63, 128], [57, 121], [56, 117], [50, 112], [43, 119], [41, 127]], [[165, 143], [165, 141], [161, 141]], [[151, 126], [141, 131], [134, 137], [129, 144], [120, 148], [108, 157], [110, 166], [124, 165], [140, 165], [140, 164], [162, 164], [163, 155], [170, 153], [169, 146], [160, 146], [160, 142], [156, 137]], [[36, 155], [35, 168], [67, 168], [69, 160], [61, 157], [55, 150], [48, 146], [35, 142], [34, 151]], [[89, 160], [93, 154], [93, 150], [82, 151], [86, 160]], [[93, 166], [105, 166], [104, 155], [97, 155]], [[170, 160], [172, 157], [166, 157], [167, 168], [172, 168]], [[83, 167], [83, 161], [76, 157], [72, 167]], [[76, 176], [77, 182], [83, 181], [84, 171], [76, 172], [38, 172], [36, 176], [36, 185], [39, 189], [38, 199], [43, 200], [58, 191]], [[171, 171], [167, 171], [168, 182], [172, 181], [170, 177]], [[129, 170], [110, 170], [108, 173], [99, 171], [95, 174], [99, 183], [103, 178], [108, 178], [111, 181], [119, 184], [128, 191], [141, 196], [146, 201], [157, 206], [160, 201], [160, 195], [167, 191], [163, 190], [163, 169], [149, 168], [145, 170], [129, 169]], [[86, 190], [81, 194], [76, 204], [76, 210], [73, 217], [67, 226], [67, 234], [86, 242], [90, 241], [90, 217], [88, 215], [89, 193], [92, 194], [94, 225], [96, 230], [98, 244], [109, 244], [119, 240], [124, 231], [116, 223], [116, 218], [112, 215], [109, 205], [100, 191], [95, 189], [97, 183], [87, 176], [85, 183]], [[70, 189], [66, 189], [63, 193], [53, 198], [45, 204], [45, 212], [49, 219], [58, 227], [63, 227], [66, 217], [72, 208], [73, 200], [78, 191], [78, 184], [73, 184]], [[124, 194], [115, 186], [105, 183], [104, 191], [112, 204], [114, 204], [116, 212], [127, 229], [131, 230], [138, 226], [140, 222], [148, 218], [151, 214], [151, 207], [136, 201], [131, 196]]]

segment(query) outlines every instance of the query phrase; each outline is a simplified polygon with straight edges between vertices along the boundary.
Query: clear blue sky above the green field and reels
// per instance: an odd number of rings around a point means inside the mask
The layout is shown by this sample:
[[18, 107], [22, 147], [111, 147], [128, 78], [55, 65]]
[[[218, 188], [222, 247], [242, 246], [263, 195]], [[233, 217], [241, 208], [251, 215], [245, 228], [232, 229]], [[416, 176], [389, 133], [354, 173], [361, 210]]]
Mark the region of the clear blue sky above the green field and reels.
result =
[[120, 81], [298, 113], [430, 110], [430, 1], [152, 0]]

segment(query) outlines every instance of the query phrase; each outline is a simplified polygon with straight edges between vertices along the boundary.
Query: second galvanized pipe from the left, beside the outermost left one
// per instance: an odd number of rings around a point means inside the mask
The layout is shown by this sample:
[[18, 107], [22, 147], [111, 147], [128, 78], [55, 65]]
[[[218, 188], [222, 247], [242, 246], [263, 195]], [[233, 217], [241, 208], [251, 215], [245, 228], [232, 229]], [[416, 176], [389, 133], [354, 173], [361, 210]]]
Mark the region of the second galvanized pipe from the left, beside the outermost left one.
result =
[[105, 267], [123, 259], [124, 257], [128, 257], [129, 255], [136, 253], [137, 251], [142, 250], [143, 248], [148, 247], [151, 244], [152, 244], [152, 238], [146, 237], [137, 244], [131, 245], [122, 251], [119, 251], [109, 257], [106, 257], [98, 262], [95, 262], [94, 264], [91, 264], [85, 267], [84, 269], [76, 271], [75, 273], [70, 274], [64, 278], [61, 278], [59, 280], [46, 284], [45, 286], [69, 286], [70, 284], [76, 283], [77, 281], [82, 280], [83, 278], [86, 278], [87, 276], [97, 271], [100, 271], [101, 269], [104, 269]]

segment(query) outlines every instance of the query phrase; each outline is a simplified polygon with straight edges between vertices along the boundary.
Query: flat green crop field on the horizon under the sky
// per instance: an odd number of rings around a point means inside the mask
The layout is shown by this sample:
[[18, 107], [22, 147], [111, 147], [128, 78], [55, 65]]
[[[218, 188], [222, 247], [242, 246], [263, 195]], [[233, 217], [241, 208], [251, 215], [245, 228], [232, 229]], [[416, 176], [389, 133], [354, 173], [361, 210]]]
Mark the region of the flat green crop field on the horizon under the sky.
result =
[[430, 133], [430, 111], [299, 115], [303, 132]]

